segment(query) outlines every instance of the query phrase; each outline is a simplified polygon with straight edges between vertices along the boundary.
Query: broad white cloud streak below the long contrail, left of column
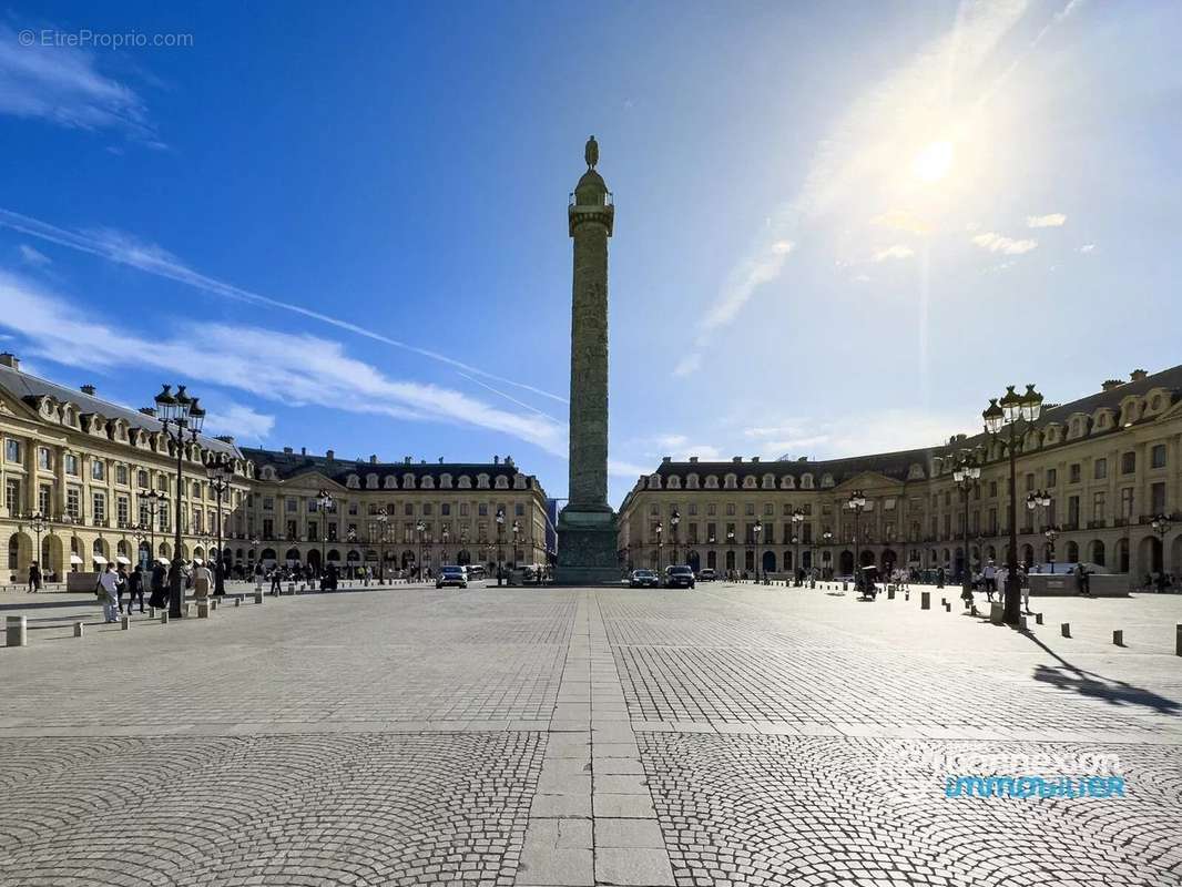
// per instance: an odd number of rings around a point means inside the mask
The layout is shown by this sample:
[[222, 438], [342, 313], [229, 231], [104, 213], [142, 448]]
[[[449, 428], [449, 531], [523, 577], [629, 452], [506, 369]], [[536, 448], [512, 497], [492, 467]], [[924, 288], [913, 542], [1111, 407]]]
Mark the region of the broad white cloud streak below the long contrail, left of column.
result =
[[[20, 332], [34, 356], [57, 363], [154, 367], [287, 406], [474, 426], [566, 455], [566, 428], [553, 420], [499, 409], [449, 388], [390, 378], [350, 357], [339, 342], [306, 334], [206, 324], [199, 337], [138, 338], [104, 326], [90, 312], [5, 272], [0, 272], [0, 324]], [[230, 415], [255, 430], [264, 425], [241, 410]]]

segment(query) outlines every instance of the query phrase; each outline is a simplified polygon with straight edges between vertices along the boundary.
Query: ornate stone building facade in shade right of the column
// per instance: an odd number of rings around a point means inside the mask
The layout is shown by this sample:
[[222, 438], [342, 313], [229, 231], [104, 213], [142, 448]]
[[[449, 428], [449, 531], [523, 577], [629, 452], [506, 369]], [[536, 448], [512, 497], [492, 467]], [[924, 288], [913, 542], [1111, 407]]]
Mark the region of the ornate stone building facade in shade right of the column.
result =
[[[1096, 394], [1046, 406], [1020, 432], [1020, 562], [1090, 562], [1129, 574], [1131, 584], [1152, 571], [1182, 572], [1182, 367], [1110, 380]], [[981, 470], [967, 490], [954, 478], [966, 458]], [[676, 561], [754, 575], [799, 564], [844, 575], [857, 557], [881, 569], [957, 574], [966, 549], [974, 569], [986, 558], [1005, 562], [1008, 480], [1006, 433], [826, 461], [667, 458], [624, 500], [621, 558], [630, 566]], [[859, 509], [850, 507], [856, 491]], [[1028, 507], [1034, 492], [1050, 503]], [[1165, 525], [1155, 525], [1160, 516]]]

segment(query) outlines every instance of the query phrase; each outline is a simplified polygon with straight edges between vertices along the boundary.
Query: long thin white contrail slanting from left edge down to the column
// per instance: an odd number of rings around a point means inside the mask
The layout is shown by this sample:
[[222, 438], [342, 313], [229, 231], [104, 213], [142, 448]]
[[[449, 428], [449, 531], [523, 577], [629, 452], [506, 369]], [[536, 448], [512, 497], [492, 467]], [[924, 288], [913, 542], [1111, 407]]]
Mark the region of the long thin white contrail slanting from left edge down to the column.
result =
[[[374, 339], [375, 342], [381, 342], [385, 345], [392, 345], [394, 348], [401, 348], [404, 351], [411, 351], [413, 354], [422, 355], [423, 357], [429, 357], [433, 361], [444, 363], [457, 370], [463, 370], [465, 373], [470, 373], [476, 376], [483, 376], [485, 378], [491, 378], [494, 382], [500, 382], [501, 384], [513, 386], [522, 390], [530, 391], [531, 394], [537, 394], [541, 397], [550, 397], [559, 403], [566, 403], [567, 400], [557, 394], [550, 391], [544, 391], [540, 388], [534, 388], [533, 386], [525, 384], [524, 382], [514, 382], [512, 378], [505, 378], [504, 376], [498, 376], [493, 373], [488, 373], [478, 367], [472, 367], [470, 364], [456, 361], [453, 357], [440, 354], [437, 351], [430, 351], [426, 348], [418, 348], [417, 345], [411, 345], [408, 342], [401, 342], [389, 336], [383, 336], [379, 332], [374, 332], [372, 330], [366, 330], [364, 326], [358, 326], [349, 321], [342, 321], [336, 317], [330, 317], [329, 315], [320, 313], [319, 311], [313, 311], [307, 307], [301, 307], [300, 305], [293, 305], [290, 302], [281, 302], [279, 299], [273, 299], [268, 296], [264, 296], [251, 290], [243, 290], [233, 284], [227, 284], [222, 280], [217, 280], [212, 277], [206, 277], [202, 273], [194, 271], [186, 265], [182, 265], [176, 260], [175, 257], [162, 250], [145, 248], [142, 245], [136, 245], [132, 242], [124, 241], [117, 237], [110, 237], [106, 239], [96, 238], [87, 234], [80, 234], [73, 231], [66, 231], [65, 228], [59, 228], [48, 222], [40, 221], [39, 219], [32, 219], [27, 215], [21, 215], [11, 209], [4, 209], [0, 207], [0, 225], [12, 228], [13, 231], [19, 231], [22, 234], [28, 234], [30, 237], [38, 238], [40, 240], [46, 240], [51, 244], [57, 244], [58, 246], [65, 246], [70, 250], [76, 250], [78, 252], [89, 253], [91, 255], [98, 255], [103, 259], [110, 261], [119, 263], [121, 265], [128, 265], [139, 271], [144, 271], [149, 274], [155, 274], [156, 277], [162, 277], [168, 280], [175, 280], [187, 286], [191, 286], [204, 292], [213, 293], [215, 296], [221, 296], [223, 298], [238, 299], [239, 302], [247, 302], [255, 305], [266, 305], [268, 307], [278, 307], [284, 311], [291, 311], [292, 313], [300, 315], [303, 317], [309, 317], [313, 321], [319, 321], [320, 323], [329, 324], [330, 326], [336, 326], [340, 330], [346, 330], [357, 336], [364, 336], [365, 338]], [[491, 389], [494, 390], [495, 389]], [[498, 393], [499, 394], [499, 393]], [[512, 400], [512, 399], [509, 399]]]

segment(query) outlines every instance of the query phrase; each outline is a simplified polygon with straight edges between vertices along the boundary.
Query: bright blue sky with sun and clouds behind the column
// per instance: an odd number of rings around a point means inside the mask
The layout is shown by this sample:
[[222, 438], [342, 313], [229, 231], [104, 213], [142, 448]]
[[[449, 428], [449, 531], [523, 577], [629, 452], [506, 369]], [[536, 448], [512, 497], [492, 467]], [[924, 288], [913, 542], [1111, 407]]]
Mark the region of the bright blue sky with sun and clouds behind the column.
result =
[[[1178, 362], [1180, 33], [1164, 1], [9, 6], [0, 344], [129, 406], [188, 382], [241, 442], [511, 454], [565, 496], [593, 132], [613, 501], [662, 455], [923, 446], [1007, 383]], [[187, 45], [96, 45], [126, 34]]]

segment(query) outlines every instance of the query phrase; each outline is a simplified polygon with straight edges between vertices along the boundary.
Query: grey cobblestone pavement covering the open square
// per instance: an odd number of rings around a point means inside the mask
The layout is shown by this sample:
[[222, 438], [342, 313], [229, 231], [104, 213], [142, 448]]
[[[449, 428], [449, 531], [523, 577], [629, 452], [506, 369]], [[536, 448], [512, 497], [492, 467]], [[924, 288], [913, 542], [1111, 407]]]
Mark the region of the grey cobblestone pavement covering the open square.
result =
[[[0, 885], [1182, 885], [1182, 596], [1035, 601], [1022, 635], [933, 594], [403, 587], [32, 630], [0, 649]], [[1125, 796], [946, 797], [973, 753], [1115, 756]]]

